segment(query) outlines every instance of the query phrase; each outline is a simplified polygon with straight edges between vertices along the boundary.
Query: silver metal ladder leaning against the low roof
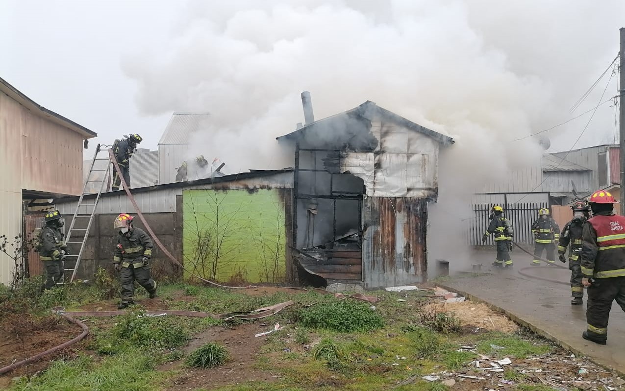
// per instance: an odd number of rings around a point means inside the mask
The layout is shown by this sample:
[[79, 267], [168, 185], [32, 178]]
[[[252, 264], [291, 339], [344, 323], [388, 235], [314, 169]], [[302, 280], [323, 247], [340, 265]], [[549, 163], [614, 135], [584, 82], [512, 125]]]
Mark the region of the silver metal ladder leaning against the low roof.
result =
[[[106, 152], [106, 158], [98, 157], [98, 154], [100, 152]], [[99, 161], [106, 161], [106, 169], [94, 168], [96, 167], [96, 162]], [[94, 176], [94, 173], [101, 172], [104, 173], [101, 178], [99, 176]], [[84, 248], [87, 243], [87, 238], [89, 237], [89, 230], [91, 229], [91, 224], [93, 224], [93, 217], [96, 214], [96, 207], [98, 206], [100, 195], [104, 191], [104, 188], [109, 181], [110, 172], [111, 157], [109, 156], [109, 150], [101, 148], [101, 145], [98, 144], [98, 147], [96, 147], [96, 153], [94, 154], [93, 160], [91, 161], [91, 167], [89, 167], [89, 174], [87, 175], [84, 182], [83, 194], [81, 194], [80, 198], [78, 199], [76, 211], [74, 212], [74, 216], [72, 217], [72, 222], [69, 225], [68, 232], [65, 235], [65, 244], [68, 245], [68, 248], [71, 250], [71, 255], [65, 255], [66, 275], [68, 272], [72, 272], [69, 282], [72, 282], [74, 278], [76, 278], [76, 272], [78, 272], [78, 266], [80, 265], [80, 261], [83, 258]], [[95, 184], [95, 186], [91, 186], [90, 184]], [[93, 194], [96, 195], [95, 198], [93, 199], [89, 197], [88, 200], [86, 200], [85, 202], [84, 196]], [[81, 210], [81, 208], [83, 210]], [[76, 222], [79, 219], [81, 220], [81, 222], [78, 224], [78, 227], [81, 228], [76, 228]], [[83, 224], [84, 219], [89, 219], [87, 220], [86, 224]], [[68, 267], [68, 264], [73, 264], [73, 266]]]

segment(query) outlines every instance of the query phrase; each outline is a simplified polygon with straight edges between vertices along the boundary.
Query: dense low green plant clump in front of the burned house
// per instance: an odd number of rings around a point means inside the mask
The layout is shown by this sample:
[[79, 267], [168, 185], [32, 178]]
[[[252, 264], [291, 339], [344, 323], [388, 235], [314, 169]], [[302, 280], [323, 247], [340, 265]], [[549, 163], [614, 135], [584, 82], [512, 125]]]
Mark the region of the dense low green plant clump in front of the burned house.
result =
[[369, 305], [352, 300], [332, 301], [305, 307], [299, 314], [305, 327], [342, 333], [369, 331], [384, 326], [384, 318]]

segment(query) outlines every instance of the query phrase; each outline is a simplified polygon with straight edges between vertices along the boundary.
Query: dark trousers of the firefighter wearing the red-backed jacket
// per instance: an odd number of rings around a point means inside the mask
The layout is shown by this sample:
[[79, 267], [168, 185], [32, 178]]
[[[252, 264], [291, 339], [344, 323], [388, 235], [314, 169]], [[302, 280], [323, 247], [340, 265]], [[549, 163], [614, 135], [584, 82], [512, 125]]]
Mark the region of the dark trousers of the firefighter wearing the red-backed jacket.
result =
[[625, 277], [594, 279], [588, 287], [586, 322], [593, 340], [607, 339], [607, 320], [614, 300], [625, 311]]

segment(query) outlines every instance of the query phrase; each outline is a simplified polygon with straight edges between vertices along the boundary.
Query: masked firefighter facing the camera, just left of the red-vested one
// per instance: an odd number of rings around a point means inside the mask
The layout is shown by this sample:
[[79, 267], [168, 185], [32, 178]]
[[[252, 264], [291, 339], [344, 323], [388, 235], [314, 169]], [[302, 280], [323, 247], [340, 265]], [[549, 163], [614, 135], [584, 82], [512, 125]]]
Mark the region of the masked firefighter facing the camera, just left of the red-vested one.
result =
[[584, 285], [582, 285], [581, 252], [582, 252], [582, 225], [590, 217], [590, 205], [586, 201], [576, 201], [572, 206], [573, 219], [564, 225], [560, 241], [557, 246], [557, 257], [566, 262], [566, 247], [569, 250], [569, 270], [571, 270], [571, 300], [572, 305], [583, 303]]

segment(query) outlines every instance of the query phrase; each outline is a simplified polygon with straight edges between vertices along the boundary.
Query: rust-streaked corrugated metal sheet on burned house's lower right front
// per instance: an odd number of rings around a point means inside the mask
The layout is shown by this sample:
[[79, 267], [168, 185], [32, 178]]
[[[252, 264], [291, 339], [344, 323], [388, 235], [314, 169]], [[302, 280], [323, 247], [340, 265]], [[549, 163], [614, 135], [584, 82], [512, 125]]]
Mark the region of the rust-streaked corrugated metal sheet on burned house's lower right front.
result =
[[362, 218], [363, 281], [367, 289], [427, 279], [427, 202], [410, 197], [366, 197]]

